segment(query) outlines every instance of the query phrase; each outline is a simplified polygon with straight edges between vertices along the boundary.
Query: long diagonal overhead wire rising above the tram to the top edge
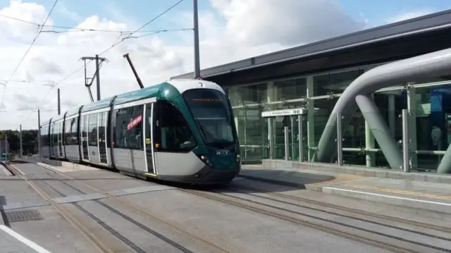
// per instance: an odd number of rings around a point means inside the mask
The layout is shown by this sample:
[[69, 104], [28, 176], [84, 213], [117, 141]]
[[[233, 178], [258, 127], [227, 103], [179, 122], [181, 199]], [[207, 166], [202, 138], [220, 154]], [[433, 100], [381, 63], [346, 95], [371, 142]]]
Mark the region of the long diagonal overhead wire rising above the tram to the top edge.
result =
[[[178, 5], [179, 5], [180, 3], [182, 3], [183, 1], [184, 1], [184, 0], [179, 0], [178, 2], [176, 2], [175, 4], [173, 4], [171, 7], [167, 8], [165, 11], [163, 11], [162, 13], [160, 13], [159, 15], [157, 15], [156, 17], [152, 18], [151, 20], [149, 20], [147, 23], [145, 23], [145, 24], [142, 25], [141, 27], [137, 28], [137, 30], [134, 30], [133, 32], [131, 32], [127, 37], [124, 37], [124, 38], [120, 39], [120, 38], [123, 36], [123, 33], [124, 33], [124, 32], [121, 32], [121, 35], [119, 35], [119, 37], [116, 39], [116, 41], [115, 41], [109, 48], [107, 48], [107, 49], [105, 49], [104, 51], [102, 51], [101, 54], [99, 54], [99, 56], [101, 56], [101, 55], [103, 55], [103, 54], [106, 54], [107, 51], [113, 49], [113, 47], [116, 47], [118, 44], [121, 44], [125, 39], [130, 39], [130, 38], [137, 38], [137, 37], [139, 37], [139, 36], [132, 37], [132, 35], [134, 35], [134, 34], [137, 33], [137, 32], [140, 32], [140, 30], [142, 30], [142, 28], [144, 28], [144, 27], [146, 27], [147, 25], [149, 25], [150, 23], [154, 22], [154, 20], [156, 20], [157, 18], [160, 18], [161, 16], [163, 16], [164, 14], [166, 14], [168, 11], [171, 11], [173, 8], [175, 8], [175, 6], [178, 6]], [[192, 30], [192, 29], [190, 29], [190, 30]], [[154, 32], [155, 32], [155, 31], [154, 31]], [[156, 33], [158, 33], [158, 32], [161, 32], [161, 30], [157, 30], [157, 31], [156, 31]], [[152, 32], [149, 32], [149, 35], [151, 35], [151, 34], [153, 34], [153, 33], [152, 33]], [[148, 35], [144, 35], [144, 36], [148, 36]], [[120, 40], [119, 40], [119, 39], [120, 39]], [[89, 65], [89, 63], [92, 63], [92, 60], [89, 61], [89, 62], [87, 63], [87, 65]], [[56, 86], [60, 85], [61, 82], [64, 82], [64, 81], [68, 80], [68, 78], [70, 78], [71, 76], [75, 75], [76, 73], [78, 73], [78, 71], [82, 70], [83, 68], [85, 68], [85, 66], [80, 66], [80, 68], [77, 68], [76, 70], [74, 70], [72, 73], [70, 73], [68, 76], [66, 76], [66, 78], [63, 78], [63, 79], [59, 80], [58, 82], [56, 82], [55, 85], [54, 85], [53, 87], [51, 87], [51, 89], [49, 90], [49, 92], [47, 92], [47, 94], [45, 94], [45, 96], [39, 101], [38, 104], [40, 105], [41, 102], [42, 102], [44, 99], [47, 98], [47, 96], [50, 94], [50, 92], [51, 92]], [[36, 109], [38, 109], [38, 108], [39, 108], [39, 106], [37, 106]], [[25, 120], [23, 120], [23, 121], [26, 121], [28, 118], [30, 118], [30, 115], [31, 115], [31, 113], [28, 114], [28, 115], [25, 117]], [[22, 121], [22, 122], [23, 122], [23, 121]]]

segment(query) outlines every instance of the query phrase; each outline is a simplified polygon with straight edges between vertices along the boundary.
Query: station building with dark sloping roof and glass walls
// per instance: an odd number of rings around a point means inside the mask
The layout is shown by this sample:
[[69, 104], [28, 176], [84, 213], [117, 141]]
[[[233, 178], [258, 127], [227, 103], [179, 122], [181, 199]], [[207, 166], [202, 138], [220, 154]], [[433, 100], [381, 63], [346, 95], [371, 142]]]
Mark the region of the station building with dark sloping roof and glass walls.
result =
[[[449, 38], [451, 11], [443, 11], [207, 68], [201, 76], [221, 85], [230, 98], [243, 162], [309, 162], [351, 82], [376, 66], [451, 48]], [[411, 170], [435, 171], [451, 144], [450, 79], [423, 78], [373, 93], [397, 141], [401, 110], [409, 110]], [[342, 128], [345, 164], [390, 168], [359, 109]]]

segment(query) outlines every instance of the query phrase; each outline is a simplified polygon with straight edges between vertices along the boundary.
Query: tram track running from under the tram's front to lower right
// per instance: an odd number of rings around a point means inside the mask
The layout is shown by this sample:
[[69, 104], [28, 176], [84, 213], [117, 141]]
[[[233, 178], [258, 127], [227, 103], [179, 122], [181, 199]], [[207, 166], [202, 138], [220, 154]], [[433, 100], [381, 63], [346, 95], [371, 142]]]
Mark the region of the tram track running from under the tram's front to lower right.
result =
[[[321, 230], [326, 233], [333, 235], [338, 235], [340, 237], [345, 237], [350, 240], [357, 242], [363, 242], [368, 245], [373, 245], [376, 247], [381, 247], [383, 249], [388, 249], [393, 252], [451, 252], [451, 240], [448, 237], [440, 237], [437, 235], [429, 235], [426, 233], [419, 233], [424, 237], [430, 237], [431, 239], [444, 240], [449, 242], [450, 247], [438, 247], [424, 242], [416, 242], [414, 240], [409, 240], [404, 237], [390, 235], [389, 233], [381, 233], [376, 230], [370, 230], [362, 228], [362, 226], [355, 226], [350, 223], [342, 222], [337, 218], [326, 217], [324, 215], [319, 215], [318, 213], [322, 210], [312, 210], [307, 211], [297, 211], [295, 209], [290, 209], [287, 206], [301, 207], [297, 204], [291, 202], [285, 202], [285, 206], [277, 206], [276, 204], [268, 204], [264, 202], [259, 202], [254, 199], [249, 199], [245, 197], [237, 197], [221, 192], [205, 192], [199, 190], [187, 190], [181, 189], [183, 192], [188, 194], [197, 195], [199, 197], [204, 197], [207, 199], [212, 199], [217, 202], [222, 202], [224, 204], [230, 204], [233, 206], [240, 207], [242, 209], [247, 209], [250, 211], [257, 212], [259, 214], [264, 214], [266, 216], [272, 216], [274, 218], [280, 218], [284, 221], [289, 221], [290, 223], [295, 223], [302, 226], [307, 226], [314, 228], [316, 230]], [[235, 191], [235, 190], [232, 190]], [[259, 196], [253, 196], [259, 197]], [[266, 200], [270, 202], [277, 202], [275, 199], [267, 198]], [[328, 215], [340, 216], [339, 214], [333, 214], [330, 211]], [[354, 219], [354, 217], [348, 216], [349, 219]], [[357, 221], [359, 221], [357, 219]], [[374, 223], [371, 221], [359, 221], [362, 223]], [[362, 225], [362, 224], [361, 224]], [[385, 226], [387, 228], [394, 228], [400, 230], [401, 233], [407, 233], [403, 228], [390, 226], [390, 224], [377, 223], [377, 226]], [[412, 233], [412, 230], [408, 231]]]

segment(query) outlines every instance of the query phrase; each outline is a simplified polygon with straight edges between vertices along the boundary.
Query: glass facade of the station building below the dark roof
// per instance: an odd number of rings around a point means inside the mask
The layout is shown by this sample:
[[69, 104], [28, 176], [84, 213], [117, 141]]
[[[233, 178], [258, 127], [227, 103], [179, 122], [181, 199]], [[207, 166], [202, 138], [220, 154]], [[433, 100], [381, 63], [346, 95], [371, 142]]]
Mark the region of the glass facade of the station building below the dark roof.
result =
[[[359, 75], [373, 67], [227, 87], [243, 161], [299, 161], [301, 155], [303, 161], [310, 161], [342, 92]], [[400, 149], [400, 115], [402, 109], [409, 110], [412, 169], [436, 170], [451, 144], [451, 81], [442, 79], [400, 84], [378, 90], [372, 95]], [[265, 112], [299, 108], [307, 113], [303, 116], [262, 116]], [[299, 124], [299, 121], [302, 123]], [[352, 118], [347, 122], [342, 125], [344, 163], [390, 168], [359, 109], [352, 113]], [[302, 142], [299, 142], [299, 135]], [[285, 150], [287, 147], [288, 151]], [[331, 162], [336, 162], [336, 157]]]

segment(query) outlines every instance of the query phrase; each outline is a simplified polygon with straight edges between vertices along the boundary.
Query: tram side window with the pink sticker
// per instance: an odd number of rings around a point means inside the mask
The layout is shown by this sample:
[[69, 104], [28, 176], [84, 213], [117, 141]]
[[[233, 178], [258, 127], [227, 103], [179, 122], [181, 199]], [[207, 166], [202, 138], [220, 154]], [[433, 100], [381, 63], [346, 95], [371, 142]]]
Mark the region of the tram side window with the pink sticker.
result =
[[144, 150], [142, 145], [143, 105], [127, 107], [115, 112], [114, 147]]

